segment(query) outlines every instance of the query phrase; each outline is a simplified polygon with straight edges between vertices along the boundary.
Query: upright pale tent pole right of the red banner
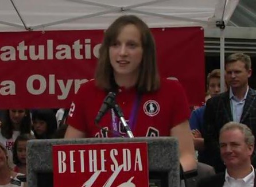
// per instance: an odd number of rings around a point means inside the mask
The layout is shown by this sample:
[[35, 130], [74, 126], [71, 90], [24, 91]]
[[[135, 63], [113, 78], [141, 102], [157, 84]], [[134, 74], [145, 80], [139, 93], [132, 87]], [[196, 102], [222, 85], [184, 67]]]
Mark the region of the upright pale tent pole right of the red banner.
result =
[[225, 91], [225, 37], [224, 29], [220, 29], [220, 92]]

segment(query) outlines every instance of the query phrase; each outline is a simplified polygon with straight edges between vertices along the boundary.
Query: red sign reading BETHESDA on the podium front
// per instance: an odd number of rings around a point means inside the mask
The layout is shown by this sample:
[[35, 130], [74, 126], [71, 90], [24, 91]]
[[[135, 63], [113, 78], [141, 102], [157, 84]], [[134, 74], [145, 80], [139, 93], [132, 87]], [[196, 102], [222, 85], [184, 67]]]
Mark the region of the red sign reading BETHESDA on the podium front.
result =
[[53, 146], [54, 187], [148, 187], [146, 143]]

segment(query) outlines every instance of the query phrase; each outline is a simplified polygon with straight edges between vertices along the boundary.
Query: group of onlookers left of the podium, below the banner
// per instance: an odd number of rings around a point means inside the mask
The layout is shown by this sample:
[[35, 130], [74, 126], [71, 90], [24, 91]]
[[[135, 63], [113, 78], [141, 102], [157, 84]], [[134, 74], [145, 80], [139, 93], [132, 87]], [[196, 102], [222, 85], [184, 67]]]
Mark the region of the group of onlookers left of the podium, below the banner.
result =
[[55, 111], [3, 110], [0, 119], [0, 186], [26, 186], [16, 177], [26, 175], [26, 143], [55, 138], [58, 132]]

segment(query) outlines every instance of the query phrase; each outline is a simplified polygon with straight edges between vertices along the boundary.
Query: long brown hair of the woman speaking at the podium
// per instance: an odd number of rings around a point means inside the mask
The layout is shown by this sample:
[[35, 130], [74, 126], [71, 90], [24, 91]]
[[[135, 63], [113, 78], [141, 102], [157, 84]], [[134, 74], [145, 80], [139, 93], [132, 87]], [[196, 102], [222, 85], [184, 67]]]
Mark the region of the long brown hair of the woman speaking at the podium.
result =
[[156, 63], [156, 47], [154, 38], [148, 26], [135, 15], [123, 15], [110, 25], [104, 33], [102, 46], [99, 49], [99, 60], [95, 73], [96, 85], [106, 91], [113, 91], [114, 81], [113, 67], [110, 64], [109, 48], [117, 40], [121, 29], [129, 24], [135, 25], [141, 33], [143, 49], [142, 63], [137, 80], [137, 91], [140, 93], [153, 92], [160, 87], [160, 76]]

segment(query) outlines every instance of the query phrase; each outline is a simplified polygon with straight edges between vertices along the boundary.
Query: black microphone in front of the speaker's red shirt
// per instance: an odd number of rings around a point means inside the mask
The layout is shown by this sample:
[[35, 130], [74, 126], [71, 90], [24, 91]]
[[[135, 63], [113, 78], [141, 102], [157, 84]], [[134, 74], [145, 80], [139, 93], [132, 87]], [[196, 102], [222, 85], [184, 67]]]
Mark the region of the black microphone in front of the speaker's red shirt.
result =
[[99, 121], [102, 119], [104, 114], [108, 111], [108, 109], [113, 108], [115, 104], [115, 93], [109, 92], [106, 96], [106, 98], [103, 100], [102, 106], [100, 107], [100, 110], [98, 114], [96, 115], [96, 118], [94, 122], [96, 124], [99, 123]]

